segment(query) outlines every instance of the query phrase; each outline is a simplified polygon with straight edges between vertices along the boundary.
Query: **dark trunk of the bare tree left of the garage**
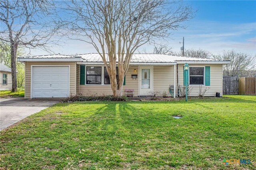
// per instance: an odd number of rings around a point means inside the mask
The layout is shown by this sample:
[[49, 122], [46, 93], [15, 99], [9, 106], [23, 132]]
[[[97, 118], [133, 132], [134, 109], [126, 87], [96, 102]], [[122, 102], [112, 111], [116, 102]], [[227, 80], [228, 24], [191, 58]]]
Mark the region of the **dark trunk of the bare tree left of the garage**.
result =
[[11, 43], [12, 92], [17, 91], [16, 56], [18, 44]]

